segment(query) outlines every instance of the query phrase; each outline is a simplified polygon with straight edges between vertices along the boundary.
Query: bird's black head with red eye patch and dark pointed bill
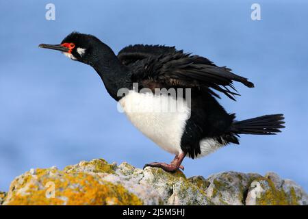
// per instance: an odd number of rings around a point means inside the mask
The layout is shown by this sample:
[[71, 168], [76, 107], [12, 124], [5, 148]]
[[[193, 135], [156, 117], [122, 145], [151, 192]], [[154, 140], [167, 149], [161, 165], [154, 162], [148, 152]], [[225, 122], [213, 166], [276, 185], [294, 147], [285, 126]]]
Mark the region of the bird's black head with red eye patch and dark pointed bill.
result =
[[92, 64], [102, 44], [103, 42], [95, 36], [73, 32], [68, 34], [60, 44], [40, 44], [38, 47], [61, 51], [71, 60]]

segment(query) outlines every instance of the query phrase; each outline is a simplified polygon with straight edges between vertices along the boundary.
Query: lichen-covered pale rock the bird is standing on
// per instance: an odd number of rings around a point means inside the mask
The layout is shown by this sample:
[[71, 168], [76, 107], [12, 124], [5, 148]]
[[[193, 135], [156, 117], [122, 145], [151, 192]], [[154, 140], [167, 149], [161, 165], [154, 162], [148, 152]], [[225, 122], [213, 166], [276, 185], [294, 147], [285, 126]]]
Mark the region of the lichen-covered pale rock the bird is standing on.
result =
[[0, 205], [308, 205], [308, 196], [273, 172], [186, 178], [180, 170], [93, 159], [64, 170], [31, 169], [0, 192]]

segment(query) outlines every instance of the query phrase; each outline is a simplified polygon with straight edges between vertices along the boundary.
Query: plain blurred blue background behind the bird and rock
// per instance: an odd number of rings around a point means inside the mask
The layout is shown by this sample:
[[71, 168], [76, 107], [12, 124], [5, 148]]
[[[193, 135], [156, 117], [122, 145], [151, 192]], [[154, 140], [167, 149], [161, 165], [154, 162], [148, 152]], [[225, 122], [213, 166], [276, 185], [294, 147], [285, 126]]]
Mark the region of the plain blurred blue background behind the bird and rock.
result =
[[[47, 20], [47, 3], [55, 20]], [[251, 5], [261, 20], [251, 19]], [[97, 73], [38, 44], [71, 31], [93, 34], [115, 53], [129, 44], [166, 44], [208, 57], [248, 77], [242, 96], [220, 103], [239, 120], [285, 114], [277, 136], [242, 136], [201, 159], [185, 175], [277, 172], [308, 191], [307, 1], [0, 1], [0, 190], [30, 168], [64, 168], [104, 158], [142, 168], [170, 162], [118, 112]]]

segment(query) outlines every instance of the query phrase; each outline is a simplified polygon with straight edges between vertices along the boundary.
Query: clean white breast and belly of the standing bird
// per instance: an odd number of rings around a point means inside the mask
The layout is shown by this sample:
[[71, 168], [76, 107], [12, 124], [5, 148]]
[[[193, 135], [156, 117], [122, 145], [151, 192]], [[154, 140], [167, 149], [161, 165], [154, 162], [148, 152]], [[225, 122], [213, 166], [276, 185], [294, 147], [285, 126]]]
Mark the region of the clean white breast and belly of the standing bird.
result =
[[131, 90], [119, 103], [145, 136], [170, 153], [181, 153], [181, 136], [190, 117], [185, 100]]

